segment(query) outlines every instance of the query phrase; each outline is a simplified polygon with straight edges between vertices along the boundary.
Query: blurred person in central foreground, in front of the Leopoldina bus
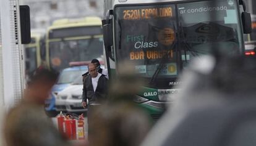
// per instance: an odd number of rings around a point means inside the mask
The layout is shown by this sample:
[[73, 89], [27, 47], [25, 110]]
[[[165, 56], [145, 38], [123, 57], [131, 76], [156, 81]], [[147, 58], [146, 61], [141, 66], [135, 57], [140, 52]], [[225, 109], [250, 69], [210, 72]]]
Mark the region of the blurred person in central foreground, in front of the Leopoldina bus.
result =
[[138, 146], [151, 128], [150, 118], [137, 107], [133, 97], [142, 82], [127, 63], [109, 86], [107, 102], [92, 113], [89, 144], [92, 146]]

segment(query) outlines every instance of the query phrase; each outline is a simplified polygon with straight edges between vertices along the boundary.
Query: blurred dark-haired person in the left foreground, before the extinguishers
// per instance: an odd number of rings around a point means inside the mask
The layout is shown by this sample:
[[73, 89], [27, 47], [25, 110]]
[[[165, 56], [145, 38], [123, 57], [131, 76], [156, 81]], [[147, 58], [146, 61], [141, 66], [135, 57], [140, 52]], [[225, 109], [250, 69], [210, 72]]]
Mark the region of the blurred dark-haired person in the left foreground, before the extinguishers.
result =
[[7, 113], [4, 123], [7, 146], [68, 145], [44, 109], [57, 78], [58, 73], [44, 68], [32, 75], [22, 101]]

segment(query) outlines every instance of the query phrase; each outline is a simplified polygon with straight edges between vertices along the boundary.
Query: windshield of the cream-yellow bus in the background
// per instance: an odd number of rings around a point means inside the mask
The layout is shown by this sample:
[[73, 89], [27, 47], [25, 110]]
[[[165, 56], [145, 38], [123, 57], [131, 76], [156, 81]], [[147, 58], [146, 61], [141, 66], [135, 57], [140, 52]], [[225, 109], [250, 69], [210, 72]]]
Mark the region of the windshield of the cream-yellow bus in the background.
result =
[[56, 70], [69, 67], [70, 62], [88, 61], [103, 55], [103, 39], [72, 39], [49, 43], [50, 65]]

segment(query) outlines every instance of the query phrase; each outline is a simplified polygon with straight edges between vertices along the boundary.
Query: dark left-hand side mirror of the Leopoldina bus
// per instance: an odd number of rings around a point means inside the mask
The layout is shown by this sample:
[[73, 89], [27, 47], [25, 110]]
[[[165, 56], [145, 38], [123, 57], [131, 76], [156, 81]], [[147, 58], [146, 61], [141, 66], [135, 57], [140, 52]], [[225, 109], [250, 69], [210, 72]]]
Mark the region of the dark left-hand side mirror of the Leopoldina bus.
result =
[[106, 20], [102, 20], [103, 40], [106, 49], [113, 46], [113, 25]]

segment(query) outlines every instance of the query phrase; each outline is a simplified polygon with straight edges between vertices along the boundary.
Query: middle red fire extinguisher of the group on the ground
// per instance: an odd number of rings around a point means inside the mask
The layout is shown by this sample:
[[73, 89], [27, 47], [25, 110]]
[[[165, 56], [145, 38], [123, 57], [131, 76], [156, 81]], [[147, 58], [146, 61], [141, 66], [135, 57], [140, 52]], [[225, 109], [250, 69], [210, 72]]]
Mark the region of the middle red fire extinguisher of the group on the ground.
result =
[[69, 118], [69, 116], [66, 116], [65, 120], [65, 135], [67, 139], [77, 139], [77, 128], [75, 124], [75, 120]]

